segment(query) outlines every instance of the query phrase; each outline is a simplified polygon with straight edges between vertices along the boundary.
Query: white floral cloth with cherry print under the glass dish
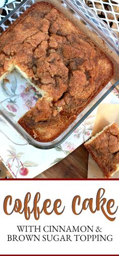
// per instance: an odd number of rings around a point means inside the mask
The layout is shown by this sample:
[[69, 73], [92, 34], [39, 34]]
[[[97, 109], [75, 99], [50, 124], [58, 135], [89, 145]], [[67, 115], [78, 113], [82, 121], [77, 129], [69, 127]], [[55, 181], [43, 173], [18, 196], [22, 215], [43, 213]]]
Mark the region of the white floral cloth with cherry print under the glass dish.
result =
[[[33, 88], [28, 89], [26, 80], [15, 70], [0, 84], [1, 104], [15, 121], [36, 103], [40, 96]], [[110, 93], [104, 103], [119, 104], [116, 90]], [[22, 106], [22, 107], [21, 107]], [[67, 157], [92, 134], [97, 109], [60, 146], [43, 150], [31, 145], [16, 145], [0, 133], [0, 156], [14, 178], [33, 178], [52, 165]], [[7, 133], [8, 127], [0, 119], [0, 128]], [[10, 129], [10, 128], [9, 128]], [[12, 132], [12, 131], [11, 131]], [[11, 134], [11, 132], [8, 132]], [[19, 138], [20, 139], [20, 138]]]

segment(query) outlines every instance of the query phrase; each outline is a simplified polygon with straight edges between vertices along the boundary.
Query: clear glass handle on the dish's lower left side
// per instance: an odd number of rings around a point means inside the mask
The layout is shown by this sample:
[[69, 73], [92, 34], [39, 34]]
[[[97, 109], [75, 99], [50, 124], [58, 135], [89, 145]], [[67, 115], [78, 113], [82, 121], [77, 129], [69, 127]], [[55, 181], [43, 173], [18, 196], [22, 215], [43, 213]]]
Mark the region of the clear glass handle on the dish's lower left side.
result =
[[16, 145], [25, 146], [28, 145], [26, 141], [18, 132], [6, 121], [2, 115], [0, 115], [0, 133], [3, 133], [11, 142]]

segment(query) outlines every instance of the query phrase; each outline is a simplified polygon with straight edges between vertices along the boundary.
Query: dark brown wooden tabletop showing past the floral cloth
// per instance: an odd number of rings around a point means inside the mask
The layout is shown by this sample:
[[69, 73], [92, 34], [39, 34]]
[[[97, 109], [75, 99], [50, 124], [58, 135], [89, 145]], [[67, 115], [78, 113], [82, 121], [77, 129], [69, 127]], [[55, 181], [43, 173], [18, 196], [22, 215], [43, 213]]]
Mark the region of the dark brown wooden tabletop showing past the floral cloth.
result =
[[[3, 163], [0, 163], [1, 178], [12, 175], [8, 172]], [[35, 178], [45, 179], [45, 178], [87, 178], [88, 170], [88, 151], [81, 145], [74, 152], [72, 152], [68, 157], [59, 162], [58, 164], [52, 166], [45, 172], [41, 173]]]

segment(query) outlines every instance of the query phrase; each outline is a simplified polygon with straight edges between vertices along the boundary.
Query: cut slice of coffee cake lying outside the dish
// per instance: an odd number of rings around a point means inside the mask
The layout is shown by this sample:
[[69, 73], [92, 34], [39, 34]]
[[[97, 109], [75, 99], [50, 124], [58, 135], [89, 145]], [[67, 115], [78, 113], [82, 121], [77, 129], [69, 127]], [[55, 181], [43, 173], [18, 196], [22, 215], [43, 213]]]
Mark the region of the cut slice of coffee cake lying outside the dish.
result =
[[116, 172], [119, 165], [119, 128], [113, 123], [102, 133], [86, 142], [85, 147], [103, 171], [106, 178]]

